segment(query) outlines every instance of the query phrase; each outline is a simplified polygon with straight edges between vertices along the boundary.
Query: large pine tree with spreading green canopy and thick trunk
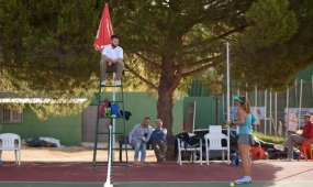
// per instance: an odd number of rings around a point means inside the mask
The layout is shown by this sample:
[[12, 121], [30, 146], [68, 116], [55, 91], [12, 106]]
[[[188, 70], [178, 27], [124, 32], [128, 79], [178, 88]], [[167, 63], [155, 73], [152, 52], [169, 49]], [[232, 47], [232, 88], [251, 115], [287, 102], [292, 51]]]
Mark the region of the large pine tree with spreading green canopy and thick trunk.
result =
[[[0, 0], [0, 65], [7, 88], [77, 97], [97, 88], [92, 43], [105, 2]], [[181, 80], [211, 68], [283, 89], [312, 63], [312, 0], [109, 0], [126, 68], [158, 92], [157, 117], [171, 134]], [[222, 76], [221, 76], [222, 77]], [[0, 80], [1, 81], [1, 80]], [[2, 88], [1, 88], [2, 89]]]

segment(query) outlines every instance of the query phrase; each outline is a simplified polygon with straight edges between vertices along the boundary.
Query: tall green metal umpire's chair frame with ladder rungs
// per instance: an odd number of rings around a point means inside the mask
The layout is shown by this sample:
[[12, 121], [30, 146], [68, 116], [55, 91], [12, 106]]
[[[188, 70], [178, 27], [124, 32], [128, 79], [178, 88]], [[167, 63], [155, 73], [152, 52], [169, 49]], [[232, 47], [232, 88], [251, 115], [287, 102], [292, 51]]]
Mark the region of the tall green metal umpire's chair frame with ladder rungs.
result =
[[[108, 72], [108, 73], [114, 73], [114, 72]], [[121, 116], [122, 117], [99, 117], [99, 111], [100, 111], [100, 107], [101, 107], [101, 103], [102, 101], [104, 100], [104, 98], [110, 98], [109, 97], [109, 91], [105, 91], [108, 89], [112, 89], [112, 94], [113, 94], [113, 99], [111, 100], [111, 105], [113, 103], [118, 103], [119, 105], [119, 108], [121, 110]], [[115, 99], [115, 89], [120, 89], [119, 92], [119, 99], [120, 100], [116, 100]], [[105, 111], [104, 111], [105, 113]], [[107, 120], [110, 120], [110, 125], [112, 125], [112, 129], [113, 129], [113, 132], [112, 134], [109, 134], [108, 132], [104, 132], [104, 131], [100, 131], [99, 130], [99, 127], [100, 125], [104, 125], [104, 124], [100, 124], [100, 119], [107, 119]], [[115, 132], [115, 122], [116, 121], [122, 121], [123, 123], [123, 130], [121, 132]], [[103, 120], [102, 120], [103, 121]], [[127, 144], [125, 143], [123, 147], [119, 147], [116, 148], [114, 146], [114, 142], [115, 142], [115, 135], [123, 135], [124, 139], [126, 140], [126, 125], [125, 125], [125, 108], [124, 108], [124, 90], [123, 90], [123, 79], [121, 79], [121, 85], [120, 86], [114, 86], [114, 85], [105, 85], [105, 86], [102, 86], [101, 85], [101, 79], [99, 81], [99, 91], [98, 91], [98, 98], [97, 98], [97, 122], [96, 122], [96, 128], [94, 128], [94, 145], [93, 145], [93, 158], [92, 158], [92, 170], [97, 167], [97, 166], [108, 166], [108, 161], [109, 161], [109, 146], [107, 147], [99, 147], [99, 144], [98, 144], [98, 139], [99, 136], [101, 135], [113, 135], [113, 147], [112, 147], [112, 157], [114, 158], [114, 152], [116, 150], [120, 151], [120, 154], [125, 151], [125, 156], [126, 156], [126, 161], [125, 162], [115, 162], [113, 160], [112, 162], [112, 166], [125, 166], [126, 167], [126, 170], [127, 173], [130, 172], [130, 168], [128, 168], [128, 154], [127, 154]], [[108, 139], [110, 140], [110, 139]], [[108, 142], [108, 145], [110, 144], [111, 142]], [[112, 145], [112, 144], [111, 144]], [[108, 151], [108, 157], [107, 157], [107, 162], [100, 162], [100, 161], [97, 161], [97, 151], [99, 150], [107, 150]], [[120, 155], [121, 156], [121, 155]]]

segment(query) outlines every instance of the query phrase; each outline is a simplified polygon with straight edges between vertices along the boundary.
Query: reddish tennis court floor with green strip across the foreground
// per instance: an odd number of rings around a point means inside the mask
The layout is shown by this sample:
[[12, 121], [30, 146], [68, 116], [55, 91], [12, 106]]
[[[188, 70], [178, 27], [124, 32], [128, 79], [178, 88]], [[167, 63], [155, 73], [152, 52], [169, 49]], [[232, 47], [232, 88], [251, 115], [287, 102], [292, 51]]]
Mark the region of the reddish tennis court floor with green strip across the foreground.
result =
[[[270, 187], [312, 186], [312, 162], [254, 162], [253, 179], [248, 186]], [[241, 175], [239, 166], [221, 162], [209, 166], [185, 163], [131, 165], [114, 167], [113, 184], [121, 187], [226, 187]], [[107, 178], [107, 167], [91, 170], [91, 163], [24, 163], [21, 166], [4, 164], [0, 167], [0, 187], [100, 187]], [[238, 186], [238, 185], [236, 185]]]

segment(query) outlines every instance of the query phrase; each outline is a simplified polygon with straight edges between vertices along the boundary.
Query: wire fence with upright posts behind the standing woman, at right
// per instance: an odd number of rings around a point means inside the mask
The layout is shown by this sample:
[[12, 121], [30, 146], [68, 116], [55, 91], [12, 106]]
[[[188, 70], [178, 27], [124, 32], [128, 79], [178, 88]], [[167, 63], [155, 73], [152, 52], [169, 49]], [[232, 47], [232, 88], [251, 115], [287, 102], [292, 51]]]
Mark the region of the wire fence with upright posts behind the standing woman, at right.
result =
[[[313, 114], [313, 81], [298, 80], [293, 87], [281, 92], [258, 90], [257, 86], [251, 92], [233, 87], [232, 96], [234, 95], [249, 98], [253, 112], [259, 119], [254, 131], [267, 135], [287, 138], [302, 129], [304, 113]], [[231, 103], [231, 110], [233, 107], [234, 102]]]

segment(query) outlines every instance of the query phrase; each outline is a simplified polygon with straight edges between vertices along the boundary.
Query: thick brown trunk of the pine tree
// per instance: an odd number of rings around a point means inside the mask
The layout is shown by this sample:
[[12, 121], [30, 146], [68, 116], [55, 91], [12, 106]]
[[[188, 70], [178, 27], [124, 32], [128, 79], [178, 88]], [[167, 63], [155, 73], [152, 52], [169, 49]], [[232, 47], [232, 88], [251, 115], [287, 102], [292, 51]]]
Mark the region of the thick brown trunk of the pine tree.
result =
[[163, 121], [167, 134], [172, 135], [172, 107], [174, 91], [180, 82], [180, 76], [176, 75], [176, 66], [172, 58], [164, 57], [161, 76], [158, 87], [157, 118]]

